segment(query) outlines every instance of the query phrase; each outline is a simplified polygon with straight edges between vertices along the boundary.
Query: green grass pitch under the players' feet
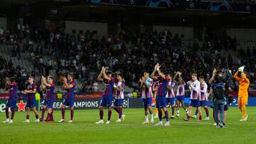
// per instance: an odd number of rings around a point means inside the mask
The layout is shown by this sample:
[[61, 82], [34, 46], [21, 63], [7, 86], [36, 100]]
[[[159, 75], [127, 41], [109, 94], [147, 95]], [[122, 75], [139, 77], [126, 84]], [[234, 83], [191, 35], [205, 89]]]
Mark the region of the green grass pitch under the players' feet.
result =
[[[114, 122], [117, 113], [112, 111], [110, 125], [96, 125], [98, 110], [76, 110], [74, 123], [23, 123], [26, 113], [17, 112], [14, 123], [0, 123], [0, 143], [255, 143], [256, 107], [247, 107], [249, 118], [242, 123], [239, 109], [230, 108], [228, 128], [215, 128], [212, 117], [201, 123], [194, 119], [183, 121], [182, 110], [181, 117], [171, 119], [169, 127], [142, 125], [143, 109], [124, 109], [124, 113], [126, 118], [122, 123]], [[210, 113], [212, 116], [211, 109]], [[205, 117], [204, 110], [203, 114]], [[54, 117], [58, 121], [60, 111], [55, 111]], [[5, 113], [0, 113], [0, 118], [4, 121]], [[70, 118], [68, 110], [66, 118]], [[107, 110], [104, 118], [107, 118]], [[34, 120], [32, 114], [31, 121]]]

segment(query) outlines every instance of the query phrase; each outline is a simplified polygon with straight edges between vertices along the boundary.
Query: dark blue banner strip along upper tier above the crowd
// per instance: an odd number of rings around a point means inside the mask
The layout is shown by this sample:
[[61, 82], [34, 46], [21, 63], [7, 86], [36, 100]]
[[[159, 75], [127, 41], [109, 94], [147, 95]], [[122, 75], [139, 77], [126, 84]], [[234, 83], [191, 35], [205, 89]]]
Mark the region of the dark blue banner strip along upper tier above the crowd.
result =
[[188, 1], [188, 0], [90, 0], [93, 4], [114, 4], [127, 6], [147, 6], [151, 8], [168, 8], [168, 9], [196, 9], [208, 11], [236, 11], [252, 12], [255, 11], [256, 5], [239, 4], [210, 1]]

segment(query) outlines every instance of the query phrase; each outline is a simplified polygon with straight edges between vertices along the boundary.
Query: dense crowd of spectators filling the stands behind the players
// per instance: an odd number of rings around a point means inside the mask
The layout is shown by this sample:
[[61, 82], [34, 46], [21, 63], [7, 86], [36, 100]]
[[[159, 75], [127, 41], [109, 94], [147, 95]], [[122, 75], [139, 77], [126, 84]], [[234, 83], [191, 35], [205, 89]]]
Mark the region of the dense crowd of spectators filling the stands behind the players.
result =
[[[122, 72], [126, 84], [136, 87], [139, 77], [143, 72], [152, 72], [156, 62], [164, 73], [180, 71], [185, 80], [190, 79], [193, 72], [209, 79], [213, 68], [236, 70], [240, 65], [246, 65], [251, 81], [256, 77], [255, 47], [241, 48], [235, 38], [227, 35], [206, 35], [203, 41], [183, 40], [184, 35], [166, 30], [139, 34], [121, 31], [99, 37], [97, 31], [71, 35], [65, 33], [64, 28], [42, 30], [19, 23], [16, 29], [1, 28], [0, 32], [0, 43], [14, 45], [12, 57], [22, 58], [21, 52], [30, 52], [33, 62], [31, 72], [25, 72], [23, 67], [13, 67], [11, 61], [1, 57], [1, 87], [10, 72], [23, 77], [48, 75], [53, 70], [58, 84], [65, 73], [72, 72], [82, 83], [82, 91], [95, 91], [97, 74], [91, 77], [90, 72], [98, 73], [102, 66], [112, 72]], [[235, 52], [241, 57], [240, 65], [234, 65]]]

